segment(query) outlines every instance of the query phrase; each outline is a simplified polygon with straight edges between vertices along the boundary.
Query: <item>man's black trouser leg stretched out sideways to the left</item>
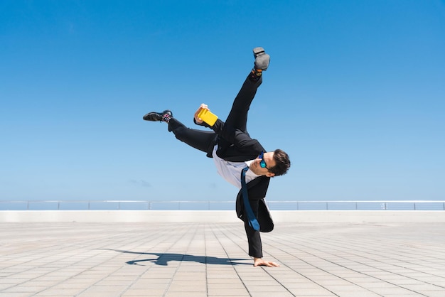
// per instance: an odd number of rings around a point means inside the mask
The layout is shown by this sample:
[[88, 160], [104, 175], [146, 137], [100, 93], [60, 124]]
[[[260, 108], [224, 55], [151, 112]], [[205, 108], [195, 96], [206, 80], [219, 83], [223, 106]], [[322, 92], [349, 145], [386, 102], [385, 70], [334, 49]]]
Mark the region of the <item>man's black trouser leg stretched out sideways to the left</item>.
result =
[[205, 153], [215, 144], [215, 132], [190, 129], [175, 118], [168, 121], [168, 131], [173, 132], [176, 139]]

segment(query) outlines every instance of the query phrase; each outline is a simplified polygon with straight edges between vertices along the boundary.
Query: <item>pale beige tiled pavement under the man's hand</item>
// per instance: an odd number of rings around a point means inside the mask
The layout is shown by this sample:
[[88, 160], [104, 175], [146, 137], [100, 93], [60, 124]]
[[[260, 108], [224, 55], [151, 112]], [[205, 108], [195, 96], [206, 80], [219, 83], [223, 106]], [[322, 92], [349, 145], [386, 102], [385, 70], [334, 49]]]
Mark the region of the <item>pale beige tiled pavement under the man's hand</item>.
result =
[[445, 223], [1, 223], [0, 296], [445, 296]]

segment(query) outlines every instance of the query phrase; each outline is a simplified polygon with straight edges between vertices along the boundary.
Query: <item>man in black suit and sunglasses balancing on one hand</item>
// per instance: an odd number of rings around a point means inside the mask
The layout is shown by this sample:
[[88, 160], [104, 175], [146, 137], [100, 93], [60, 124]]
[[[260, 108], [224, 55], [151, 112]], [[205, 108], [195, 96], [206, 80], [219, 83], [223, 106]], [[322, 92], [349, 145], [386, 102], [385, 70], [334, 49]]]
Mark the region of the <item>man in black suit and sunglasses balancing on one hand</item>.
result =
[[198, 117], [201, 104], [195, 112], [194, 122], [213, 131], [190, 129], [173, 117], [170, 110], [149, 112], [146, 121], [165, 121], [168, 131], [176, 138], [193, 148], [207, 153], [213, 158], [218, 173], [229, 183], [241, 189], [237, 195], [237, 215], [245, 222], [249, 255], [254, 258], [254, 266], [279, 266], [273, 261], [262, 259], [262, 243], [259, 232], [270, 232], [274, 223], [264, 202], [269, 180], [273, 176], [284, 175], [291, 165], [289, 156], [277, 149], [267, 152], [256, 139], [247, 133], [247, 112], [257, 88], [262, 83], [262, 72], [269, 67], [270, 57], [263, 48], [254, 48], [254, 68], [247, 76], [232, 105], [226, 121], [217, 119], [210, 126]]

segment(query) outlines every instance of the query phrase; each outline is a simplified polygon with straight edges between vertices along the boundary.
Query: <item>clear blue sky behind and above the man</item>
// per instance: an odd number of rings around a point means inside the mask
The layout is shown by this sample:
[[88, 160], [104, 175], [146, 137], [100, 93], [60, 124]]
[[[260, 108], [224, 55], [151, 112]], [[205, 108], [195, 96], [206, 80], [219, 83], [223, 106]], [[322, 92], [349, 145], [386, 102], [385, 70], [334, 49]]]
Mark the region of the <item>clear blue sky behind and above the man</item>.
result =
[[291, 157], [268, 200], [445, 200], [445, 1], [0, 2], [0, 200], [233, 200], [142, 120], [225, 119]]

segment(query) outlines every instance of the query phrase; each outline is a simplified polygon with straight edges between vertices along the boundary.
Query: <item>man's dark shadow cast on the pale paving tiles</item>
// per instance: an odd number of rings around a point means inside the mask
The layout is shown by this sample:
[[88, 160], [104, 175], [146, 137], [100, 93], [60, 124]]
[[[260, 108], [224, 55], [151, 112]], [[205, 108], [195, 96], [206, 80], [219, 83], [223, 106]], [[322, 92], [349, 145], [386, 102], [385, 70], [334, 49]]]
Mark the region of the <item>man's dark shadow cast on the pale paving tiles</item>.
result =
[[168, 266], [168, 261], [189, 261], [189, 262], [197, 262], [202, 264], [218, 264], [218, 265], [252, 265], [243, 261], [247, 259], [230, 259], [230, 258], [217, 258], [217, 257], [208, 257], [208, 256], [194, 256], [190, 254], [171, 254], [171, 253], [145, 253], [145, 252], [131, 252], [124, 251], [121, 249], [104, 249], [107, 251], [114, 251], [124, 254], [146, 254], [157, 256], [154, 259], [141, 259], [141, 260], [132, 260], [127, 261], [126, 263], [129, 265], [141, 265], [141, 262], [151, 262], [156, 265]]

